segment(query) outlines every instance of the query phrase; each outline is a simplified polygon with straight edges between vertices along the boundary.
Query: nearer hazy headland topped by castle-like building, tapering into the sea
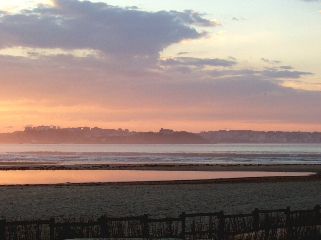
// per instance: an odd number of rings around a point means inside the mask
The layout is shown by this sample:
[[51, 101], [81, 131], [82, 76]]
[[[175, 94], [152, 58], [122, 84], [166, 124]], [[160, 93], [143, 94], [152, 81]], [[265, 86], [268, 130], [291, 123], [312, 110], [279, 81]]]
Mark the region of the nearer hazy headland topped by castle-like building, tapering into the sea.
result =
[[61, 128], [27, 129], [0, 134], [0, 143], [36, 144], [211, 144], [191, 132], [129, 132], [122, 129]]

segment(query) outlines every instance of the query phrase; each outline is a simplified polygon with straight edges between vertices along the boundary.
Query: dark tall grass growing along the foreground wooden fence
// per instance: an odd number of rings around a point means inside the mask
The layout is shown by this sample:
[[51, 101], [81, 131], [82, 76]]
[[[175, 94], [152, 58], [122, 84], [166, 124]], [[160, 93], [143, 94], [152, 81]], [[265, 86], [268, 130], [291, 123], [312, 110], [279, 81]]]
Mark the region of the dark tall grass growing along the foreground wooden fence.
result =
[[[225, 219], [224, 236], [216, 234], [219, 228], [217, 218], [192, 217], [186, 222], [187, 240], [192, 239], [226, 239], [226, 240], [314, 240], [321, 239], [321, 225], [312, 224], [314, 219], [311, 214], [295, 214], [289, 219], [283, 214], [268, 214], [268, 226], [265, 221], [259, 222], [259, 229], [255, 230], [253, 217], [236, 217]], [[167, 217], [168, 218], [168, 217]], [[5, 220], [5, 218], [4, 218]], [[25, 220], [25, 219], [23, 219]], [[35, 219], [34, 219], [35, 220]], [[8, 220], [9, 221], [9, 220]], [[10, 219], [10, 222], [21, 219]], [[55, 224], [54, 240], [89, 238], [89, 239], [128, 239], [141, 238], [142, 225], [139, 220], [110, 221], [106, 225], [108, 238], [100, 238], [100, 225], [90, 224], [96, 220], [91, 217], [61, 217]], [[76, 224], [75, 224], [76, 223]], [[308, 226], [298, 226], [308, 225]], [[148, 224], [148, 239], [178, 238], [181, 231], [179, 221], [150, 222]], [[280, 228], [274, 228], [279, 226]], [[205, 231], [205, 232], [202, 232]], [[48, 224], [26, 224], [6, 226], [3, 240], [50, 240], [50, 228]]]

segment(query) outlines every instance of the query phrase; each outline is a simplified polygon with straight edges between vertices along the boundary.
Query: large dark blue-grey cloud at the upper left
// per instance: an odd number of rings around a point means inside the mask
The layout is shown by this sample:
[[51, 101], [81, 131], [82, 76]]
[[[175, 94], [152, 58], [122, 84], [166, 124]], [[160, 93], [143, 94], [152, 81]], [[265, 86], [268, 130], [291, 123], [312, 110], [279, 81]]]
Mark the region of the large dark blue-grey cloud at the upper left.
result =
[[144, 12], [90, 1], [53, 3], [3, 14], [0, 47], [95, 49], [127, 58], [155, 58], [170, 44], [207, 36], [194, 26], [221, 25], [191, 10]]

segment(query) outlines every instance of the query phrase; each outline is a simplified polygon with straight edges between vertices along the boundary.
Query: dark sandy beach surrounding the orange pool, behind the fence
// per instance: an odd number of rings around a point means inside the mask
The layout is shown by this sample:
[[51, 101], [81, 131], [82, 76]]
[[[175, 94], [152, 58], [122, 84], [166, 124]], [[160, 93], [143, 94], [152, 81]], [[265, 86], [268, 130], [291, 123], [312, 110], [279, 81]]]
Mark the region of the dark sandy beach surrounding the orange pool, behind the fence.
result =
[[[26, 166], [2, 166], [12, 170]], [[28, 165], [29, 169], [126, 169], [194, 171], [320, 172], [319, 164], [113, 164]], [[312, 208], [321, 202], [321, 176], [261, 177], [127, 183], [77, 183], [0, 186], [0, 215], [6, 218], [49, 218], [102, 214], [128, 216], [149, 213], [176, 216], [180, 212], [251, 212], [255, 208]]]

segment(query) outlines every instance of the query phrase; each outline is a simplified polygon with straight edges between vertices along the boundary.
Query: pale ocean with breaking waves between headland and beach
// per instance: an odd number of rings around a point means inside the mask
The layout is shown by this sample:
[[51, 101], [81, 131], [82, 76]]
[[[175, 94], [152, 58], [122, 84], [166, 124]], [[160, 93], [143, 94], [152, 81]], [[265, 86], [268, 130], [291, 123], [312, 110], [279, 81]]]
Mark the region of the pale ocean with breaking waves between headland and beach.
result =
[[0, 144], [0, 164], [321, 163], [321, 144]]

